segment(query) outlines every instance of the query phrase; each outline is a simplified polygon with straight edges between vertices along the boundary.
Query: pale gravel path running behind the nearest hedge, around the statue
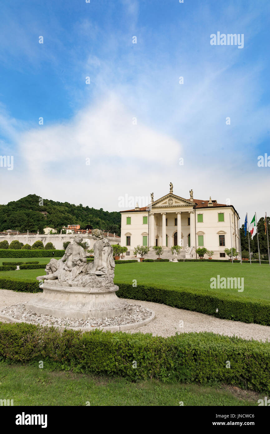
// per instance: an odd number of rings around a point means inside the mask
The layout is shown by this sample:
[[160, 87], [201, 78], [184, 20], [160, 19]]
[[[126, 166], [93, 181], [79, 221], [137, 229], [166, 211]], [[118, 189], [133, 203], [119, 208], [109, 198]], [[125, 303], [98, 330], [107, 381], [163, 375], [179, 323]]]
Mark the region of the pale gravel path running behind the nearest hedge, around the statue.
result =
[[[0, 309], [13, 304], [27, 302], [38, 294], [16, 293], [7, 289], [0, 289]], [[130, 329], [128, 333], [143, 332], [159, 336], [172, 336], [176, 332], [214, 332], [219, 335], [239, 336], [243, 339], [270, 342], [270, 327], [260, 324], [219, 319], [204, 313], [177, 309], [163, 304], [130, 300], [133, 305], [140, 305], [155, 311], [156, 317], [149, 324], [140, 329]]]

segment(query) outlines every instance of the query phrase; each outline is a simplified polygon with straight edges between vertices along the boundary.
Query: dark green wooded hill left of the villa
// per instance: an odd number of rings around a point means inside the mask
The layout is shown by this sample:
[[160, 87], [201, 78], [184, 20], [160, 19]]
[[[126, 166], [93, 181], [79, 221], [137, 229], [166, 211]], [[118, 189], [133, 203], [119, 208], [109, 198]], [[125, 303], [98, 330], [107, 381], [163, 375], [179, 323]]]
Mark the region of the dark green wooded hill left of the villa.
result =
[[[36, 194], [29, 194], [18, 201], [9, 202], [7, 205], [0, 205], [0, 231], [14, 229], [20, 232], [42, 233], [46, 226], [57, 229], [68, 224], [79, 224], [81, 229], [92, 226], [120, 235], [121, 214], [120, 212], [104, 211], [103, 208], [76, 206], [68, 202], [55, 202], [43, 199], [40, 206], [40, 197]], [[48, 214], [43, 215], [42, 211]]]

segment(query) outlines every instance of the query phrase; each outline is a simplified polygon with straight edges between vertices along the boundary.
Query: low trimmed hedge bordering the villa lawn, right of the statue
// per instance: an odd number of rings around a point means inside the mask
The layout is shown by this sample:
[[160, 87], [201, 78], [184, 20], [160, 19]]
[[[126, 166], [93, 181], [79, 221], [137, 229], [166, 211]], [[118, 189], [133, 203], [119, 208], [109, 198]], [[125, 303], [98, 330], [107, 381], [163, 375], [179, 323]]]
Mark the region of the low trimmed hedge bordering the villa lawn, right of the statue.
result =
[[[241, 322], [270, 325], [270, 302], [254, 300], [250, 297], [237, 297], [231, 294], [215, 295], [209, 291], [186, 288], [172, 288], [149, 285], [132, 286], [130, 283], [117, 283], [117, 296], [127, 299], [163, 303], [178, 309], [206, 313], [217, 318], [233, 319]], [[216, 312], [218, 309], [218, 312]]]

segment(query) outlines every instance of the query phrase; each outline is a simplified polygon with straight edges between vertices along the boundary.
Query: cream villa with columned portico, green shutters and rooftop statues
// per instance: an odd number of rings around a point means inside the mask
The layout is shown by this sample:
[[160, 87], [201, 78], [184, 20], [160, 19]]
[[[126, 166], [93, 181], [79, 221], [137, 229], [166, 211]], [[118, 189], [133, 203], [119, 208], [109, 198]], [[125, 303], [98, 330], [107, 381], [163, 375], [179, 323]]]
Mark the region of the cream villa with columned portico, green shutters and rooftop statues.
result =
[[[180, 257], [196, 258], [195, 250], [206, 247], [213, 250], [213, 259], [228, 259], [224, 249], [239, 248], [239, 215], [232, 205], [218, 204], [216, 200], [189, 199], [172, 191], [148, 207], [121, 211], [121, 245], [127, 246], [128, 256], [134, 247], [149, 246], [147, 257], [156, 257], [153, 246], [163, 246], [164, 257], [171, 257], [170, 247], [182, 246]], [[206, 258], [207, 256], [205, 256]]]

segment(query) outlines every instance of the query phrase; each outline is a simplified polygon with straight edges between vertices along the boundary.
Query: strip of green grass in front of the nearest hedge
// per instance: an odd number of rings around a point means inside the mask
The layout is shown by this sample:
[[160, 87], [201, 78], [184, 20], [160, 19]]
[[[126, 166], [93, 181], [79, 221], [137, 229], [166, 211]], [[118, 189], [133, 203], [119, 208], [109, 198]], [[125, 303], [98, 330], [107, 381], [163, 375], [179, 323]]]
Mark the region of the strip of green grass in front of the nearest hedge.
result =
[[[237, 395], [238, 396], [235, 396]], [[258, 405], [257, 394], [203, 387], [164, 384], [158, 381], [130, 383], [124, 378], [107, 378], [72, 372], [51, 372], [33, 366], [0, 363], [0, 397], [13, 405], [135, 405], [212, 406]], [[89, 404], [88, 404], [89, 405]]]

